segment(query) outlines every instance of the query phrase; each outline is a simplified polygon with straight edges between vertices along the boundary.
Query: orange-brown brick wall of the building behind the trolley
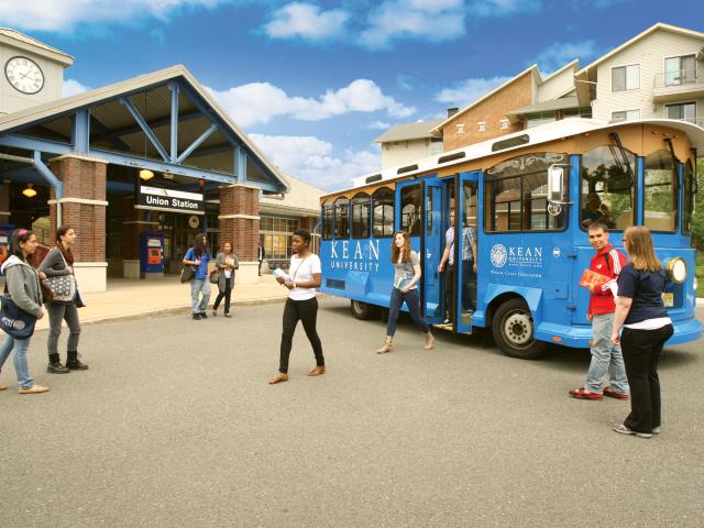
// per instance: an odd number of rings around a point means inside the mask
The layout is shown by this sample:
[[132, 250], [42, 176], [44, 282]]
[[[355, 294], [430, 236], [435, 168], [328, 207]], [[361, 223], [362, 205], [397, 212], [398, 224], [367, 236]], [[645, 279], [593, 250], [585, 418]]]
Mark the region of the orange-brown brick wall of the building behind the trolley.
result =
[[[522, 123], [508, 123], [508, 129], [501, 128], [501, 120], [507, 119], [506, 112], [532, 105], [531, 73], [514, 80], [510, 85], [480, 102], [464, 113], [458, 114], [442, 128], [444, 151], [452, 151], [473, 145], [482, 141], [512, 134], [524, 130]], [[485, 122], [486, 131], [480, 132], [477, 123]], [[458, 134], [458, 124], [464, 124], [464, 133]]]

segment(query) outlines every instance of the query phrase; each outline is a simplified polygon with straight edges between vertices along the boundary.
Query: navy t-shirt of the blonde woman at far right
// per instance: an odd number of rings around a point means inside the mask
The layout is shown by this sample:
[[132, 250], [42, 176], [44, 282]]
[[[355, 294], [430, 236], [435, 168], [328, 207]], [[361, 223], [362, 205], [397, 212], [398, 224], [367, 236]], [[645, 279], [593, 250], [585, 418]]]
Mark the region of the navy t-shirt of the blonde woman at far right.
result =
[[618, 296], [634, 299], [624, 324], [635, 324], [647, 319], [668, 317], [662, 301], [664, 272], [636, 270], [628, 263], [618, 274]]

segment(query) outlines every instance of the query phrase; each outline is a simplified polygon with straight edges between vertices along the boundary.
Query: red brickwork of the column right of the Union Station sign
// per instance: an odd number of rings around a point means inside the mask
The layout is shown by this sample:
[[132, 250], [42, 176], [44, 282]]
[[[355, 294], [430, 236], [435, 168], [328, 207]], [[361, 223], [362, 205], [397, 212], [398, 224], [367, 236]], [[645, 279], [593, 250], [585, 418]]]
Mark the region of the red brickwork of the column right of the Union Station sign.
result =
[[[220, 189], [220, 215], [260, 215], [260, 190], [242, 185]], [[220, 242], [232, 242], [241, 261], [256, 261], [260, 221], [250, 218], [220, 218]]]

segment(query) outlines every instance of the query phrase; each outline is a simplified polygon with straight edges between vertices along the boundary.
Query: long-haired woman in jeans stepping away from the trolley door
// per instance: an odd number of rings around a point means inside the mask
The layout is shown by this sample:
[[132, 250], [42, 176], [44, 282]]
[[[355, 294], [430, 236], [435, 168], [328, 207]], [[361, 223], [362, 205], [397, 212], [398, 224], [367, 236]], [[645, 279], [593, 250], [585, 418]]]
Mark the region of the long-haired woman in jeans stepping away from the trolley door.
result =
[[391, 352], [398, 311], [404, 302], [408, 306], [410, 318], [426, 334], [424, 349], [433, 346], [435, 338], [430, 333], [430, 327], [420, 316], [420, 299], [418, 297], [418, 282], [420, 280], [420, 258], [418, 253], [410, 248], [410, 237], [406, 231], [397, 231], [392, 239], [392, 263], [394, 264], [394, 287], [392, 288], [388, 306], [388, 324], [386, 327], [386, 341], [376, 351], [377, 354]]

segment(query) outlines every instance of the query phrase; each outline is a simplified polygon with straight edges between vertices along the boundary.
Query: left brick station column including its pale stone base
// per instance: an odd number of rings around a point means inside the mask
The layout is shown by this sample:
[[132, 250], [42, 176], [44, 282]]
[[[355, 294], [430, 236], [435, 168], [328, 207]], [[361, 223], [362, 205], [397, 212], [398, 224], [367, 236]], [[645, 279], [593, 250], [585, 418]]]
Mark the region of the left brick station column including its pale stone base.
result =
[[[85, 293], [107, 289], [106, 262], [106, 170], [107, 163], [66, 154], [50, 160], [48, 168], [64, 184], [62, 223], [76, 230], [74, 248], [76, 278]], [[50, 226], [56, 226], [56, 191], [52, 187]]]

